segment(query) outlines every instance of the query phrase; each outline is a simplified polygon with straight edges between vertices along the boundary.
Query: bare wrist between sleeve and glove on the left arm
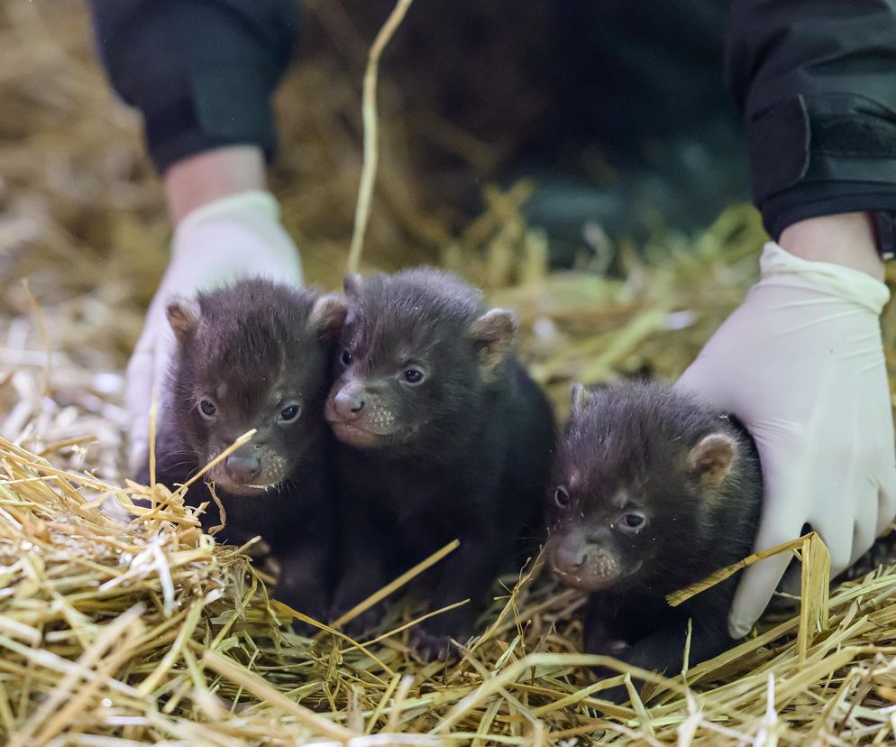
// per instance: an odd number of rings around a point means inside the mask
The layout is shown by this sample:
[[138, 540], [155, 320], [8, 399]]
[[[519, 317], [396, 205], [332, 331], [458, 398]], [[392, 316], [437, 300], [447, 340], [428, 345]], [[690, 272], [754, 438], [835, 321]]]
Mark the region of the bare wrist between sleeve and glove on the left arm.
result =
[[266, 189], [264, 154], [258, 145], [228, 145], [197, 153], [165, 172], [168, 212], [176, 226], [188, 213], [216, 199]]

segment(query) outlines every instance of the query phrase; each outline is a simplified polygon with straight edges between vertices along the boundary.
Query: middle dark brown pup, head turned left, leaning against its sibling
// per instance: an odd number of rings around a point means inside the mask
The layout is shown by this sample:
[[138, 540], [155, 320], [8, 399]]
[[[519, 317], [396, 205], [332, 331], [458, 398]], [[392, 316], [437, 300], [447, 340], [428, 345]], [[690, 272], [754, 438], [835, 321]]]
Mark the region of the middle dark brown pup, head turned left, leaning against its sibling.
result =
[[[517, 320], [433, 269], [345, 283], [341, 373], [326, 402], [337, 449], [343, 613], [458, 538], [423, 579], [416, 650], [465, 641], [500, 569], [537, 515], [553, 447], [544, 394], [513, 354]], [[376, 613], [355, 628], [370, 622]]]

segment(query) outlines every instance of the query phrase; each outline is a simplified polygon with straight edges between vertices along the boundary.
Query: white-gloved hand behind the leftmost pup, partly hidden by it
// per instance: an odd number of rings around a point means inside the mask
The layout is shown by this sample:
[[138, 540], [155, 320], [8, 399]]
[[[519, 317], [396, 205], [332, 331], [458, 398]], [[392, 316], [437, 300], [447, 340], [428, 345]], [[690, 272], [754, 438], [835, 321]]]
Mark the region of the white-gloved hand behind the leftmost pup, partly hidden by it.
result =
[[277, 200], [270, 192], [246, 191], [216, 199], [190, 212], [175, 229], [168, 269], [146, 313], [125, 376], [132, 471], [148, 454], [152, 391], [160, 398], [175, 348], [165, 316], [169, 298], [190, 297], [244, 276], [302, 283], [296, 244], [280, 225]]

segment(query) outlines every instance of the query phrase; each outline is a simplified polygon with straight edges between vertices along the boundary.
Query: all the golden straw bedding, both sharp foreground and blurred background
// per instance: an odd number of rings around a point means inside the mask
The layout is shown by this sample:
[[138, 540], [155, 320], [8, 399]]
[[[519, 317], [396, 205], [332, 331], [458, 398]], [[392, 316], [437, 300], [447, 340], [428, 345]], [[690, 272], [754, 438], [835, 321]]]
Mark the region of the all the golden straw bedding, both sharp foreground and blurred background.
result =
[[[339, 5], [309, 5], [344, 28]], [[326, 287], [338, 282], [351, 233], [360, 78], [357, 66], [320, 54], [279, 100], [288, 142], [276, 186], [306, 273]], [[530, 186], [485, 189], [472, 221], [435, 210], [427, 200], [437, 190], [409, 186], [425, 175], [407, 153], [425, 142], [395, 121], [388, 76], [380, 96], [389, 198], [374, 199], [363, 266], [442, 263], [515, 306], [522, 354], [561, 415], [572, 379], [679, 374], [754, 281], [762, 232], [737, 206], [698, 237], [659, 235], [642, 254], [608, 248], [620, 279], [548, 273], [544, 236], [521, 214]], [[308, 97], [320, 106], [301, 106]], [[804, 615], [799, 635], [798, 614], [770, 616], [718, 659], [671, 680], [648, 675], [647, 705], [600, 700], [618, 680], [595, 682], [588, 665], [608, 662], [578, 652], [581, 596], [555, 586], [535, 558], [495, 586], [482, 634], [448, 667], [414, 659], [407, 634], [417, 613], [400, 605], [371, 641], [291, 632], [292, 613], [269, 599], [264, 569], [246, 552], [204, 535], [178, 494], [124, 481], [121, 372], [168, 228], [138, 124], [105, 88], [78, 3], [0, 6], [0, 100], [5, 743], [896, 739], [896, 563], [884, 545], [831, 589], [827, 630]], [[135, 497], [153, 508], [135, 508]]]

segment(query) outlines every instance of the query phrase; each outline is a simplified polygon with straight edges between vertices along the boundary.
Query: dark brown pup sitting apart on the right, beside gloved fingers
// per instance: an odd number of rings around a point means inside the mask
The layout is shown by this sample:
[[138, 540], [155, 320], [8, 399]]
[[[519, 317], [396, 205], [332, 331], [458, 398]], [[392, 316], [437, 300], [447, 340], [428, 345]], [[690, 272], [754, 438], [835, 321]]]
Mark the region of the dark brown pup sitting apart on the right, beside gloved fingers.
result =
[[731, 646], [736, 576], [679, 607], [665, 595], [753, 551], [762, 473], [745, 429], [660, 384], [579, 384], [553, 481], [546, 553], [562, 583], [591, 592], [587, 651], [672, 675], [689, 618], [691, 664]]

